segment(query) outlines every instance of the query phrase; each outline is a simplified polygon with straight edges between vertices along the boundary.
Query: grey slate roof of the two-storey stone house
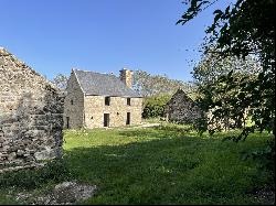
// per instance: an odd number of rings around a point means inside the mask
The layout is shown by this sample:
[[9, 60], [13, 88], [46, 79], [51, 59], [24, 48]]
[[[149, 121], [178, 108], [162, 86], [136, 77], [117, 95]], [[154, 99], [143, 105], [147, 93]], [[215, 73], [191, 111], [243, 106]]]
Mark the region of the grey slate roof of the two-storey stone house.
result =
[[74, 69], [74, 73], [85, 95], [141, 97], [115, 75], [78, 69]]

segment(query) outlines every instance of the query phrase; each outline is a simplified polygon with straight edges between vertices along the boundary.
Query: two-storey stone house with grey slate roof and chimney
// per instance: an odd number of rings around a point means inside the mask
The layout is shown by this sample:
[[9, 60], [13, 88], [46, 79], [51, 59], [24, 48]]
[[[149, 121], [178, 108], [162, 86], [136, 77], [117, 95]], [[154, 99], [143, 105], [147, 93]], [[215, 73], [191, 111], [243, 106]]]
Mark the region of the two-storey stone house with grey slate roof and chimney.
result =
[[142, 98], [131, 89], [131, 71], [120, 77], [73, 69], [64, 101], [64, 128], [103, 128], [141, 123]]

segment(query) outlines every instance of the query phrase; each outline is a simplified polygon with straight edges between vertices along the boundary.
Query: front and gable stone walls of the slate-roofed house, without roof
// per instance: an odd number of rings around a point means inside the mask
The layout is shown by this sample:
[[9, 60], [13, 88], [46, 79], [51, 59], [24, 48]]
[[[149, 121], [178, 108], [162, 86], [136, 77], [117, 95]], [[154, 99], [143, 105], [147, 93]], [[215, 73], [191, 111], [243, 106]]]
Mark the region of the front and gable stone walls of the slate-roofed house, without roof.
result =
[[[68, 79], [64, 102], [64, 128], [103, 128], [104, 113], [109, 113], [109, 127], [126, 126], [127, 112], [130, 112], [130, 126], [141, 123], [142, 98], [110, 97], [105, 105], [104, 96], [86, 96], [79, 86], [74, 71]], [[67, 122], [68, 120], [68, 122]]]

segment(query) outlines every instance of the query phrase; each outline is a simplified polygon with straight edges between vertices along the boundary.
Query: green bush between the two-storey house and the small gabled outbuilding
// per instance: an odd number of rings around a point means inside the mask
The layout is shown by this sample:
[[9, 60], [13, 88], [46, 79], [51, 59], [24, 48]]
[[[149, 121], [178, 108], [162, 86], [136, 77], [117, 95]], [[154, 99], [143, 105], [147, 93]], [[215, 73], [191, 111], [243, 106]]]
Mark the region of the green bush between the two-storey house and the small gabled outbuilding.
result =
[[146, 97], [144, 100], [144, 118], [162, 117], [166, 104], [170, 100], [171, 95], [159, 95]]

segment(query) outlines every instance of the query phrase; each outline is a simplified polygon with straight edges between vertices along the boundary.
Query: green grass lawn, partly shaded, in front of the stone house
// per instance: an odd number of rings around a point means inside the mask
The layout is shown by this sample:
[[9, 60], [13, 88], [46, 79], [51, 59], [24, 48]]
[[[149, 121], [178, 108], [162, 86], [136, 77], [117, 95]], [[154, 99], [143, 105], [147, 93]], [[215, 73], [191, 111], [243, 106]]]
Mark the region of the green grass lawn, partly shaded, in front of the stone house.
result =
[[199, 137], [185, 129], [65, 131], [64, 160], [74, 178], [98, 188], [82, 204], [266, 204], [253, 192], [273, 184], [272, 175], [242, 156], [272, 135], [234, 143], [222, 141], [225, 133]]

